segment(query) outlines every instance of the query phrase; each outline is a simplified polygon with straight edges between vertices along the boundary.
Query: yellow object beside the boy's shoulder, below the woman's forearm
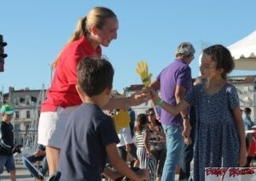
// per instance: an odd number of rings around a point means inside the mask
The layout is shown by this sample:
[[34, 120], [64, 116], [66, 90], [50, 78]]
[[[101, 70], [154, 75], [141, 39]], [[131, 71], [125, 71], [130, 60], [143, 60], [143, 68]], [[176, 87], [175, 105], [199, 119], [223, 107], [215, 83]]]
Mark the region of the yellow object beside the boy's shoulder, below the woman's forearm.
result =
[[129, 127], [129, 123], [131, 122], [129, 111], [127, 110], [119, 110], [119, 113], [112, 116], [112, 118], [117, 133], [120, 131], [120, 129]]

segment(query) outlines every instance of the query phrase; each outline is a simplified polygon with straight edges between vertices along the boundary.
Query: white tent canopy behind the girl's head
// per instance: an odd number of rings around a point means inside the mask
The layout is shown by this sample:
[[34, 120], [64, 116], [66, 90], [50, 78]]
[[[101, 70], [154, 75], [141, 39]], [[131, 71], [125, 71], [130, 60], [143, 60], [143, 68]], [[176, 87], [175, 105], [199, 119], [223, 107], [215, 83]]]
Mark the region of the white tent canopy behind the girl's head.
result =
[[228, 48], [235, 60], [235, 70], [256, 71], [256, 31]]

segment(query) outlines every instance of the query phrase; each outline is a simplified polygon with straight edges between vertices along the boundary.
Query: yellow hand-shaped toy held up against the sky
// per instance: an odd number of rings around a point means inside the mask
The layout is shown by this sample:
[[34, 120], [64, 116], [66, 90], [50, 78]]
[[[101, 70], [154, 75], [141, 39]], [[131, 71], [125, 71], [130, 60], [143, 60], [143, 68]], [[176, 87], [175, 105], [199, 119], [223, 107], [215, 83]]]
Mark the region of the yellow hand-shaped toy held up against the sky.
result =
[[141, 76], [141, 79], [143, 81], [143, 84], [145, 88], [148, 88], [151, 84], [151, 76], [152, 74], [148, 74], [148, 64], [145, 61], [141, 61], [137, 63], [137, 74]]

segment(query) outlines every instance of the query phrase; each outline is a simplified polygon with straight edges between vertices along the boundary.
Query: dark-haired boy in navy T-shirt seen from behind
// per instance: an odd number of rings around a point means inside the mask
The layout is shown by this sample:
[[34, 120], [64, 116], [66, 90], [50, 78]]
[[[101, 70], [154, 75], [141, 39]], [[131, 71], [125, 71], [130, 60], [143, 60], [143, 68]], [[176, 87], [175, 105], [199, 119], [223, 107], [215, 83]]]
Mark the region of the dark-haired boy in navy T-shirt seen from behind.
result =
[[116, 144], [119, 138], [110, 116], [102, 107], [108, 103], [113, 83], [113, 66], [106, 59], [85, 58], [79, 61], [76, 86], [83, 104], [67, 120], [61, 146], [59, 170], [61, 181], [101, 180], [106, 160], [133, 180], [148, 179], [148, 172], [134, 173], [119, 157]]

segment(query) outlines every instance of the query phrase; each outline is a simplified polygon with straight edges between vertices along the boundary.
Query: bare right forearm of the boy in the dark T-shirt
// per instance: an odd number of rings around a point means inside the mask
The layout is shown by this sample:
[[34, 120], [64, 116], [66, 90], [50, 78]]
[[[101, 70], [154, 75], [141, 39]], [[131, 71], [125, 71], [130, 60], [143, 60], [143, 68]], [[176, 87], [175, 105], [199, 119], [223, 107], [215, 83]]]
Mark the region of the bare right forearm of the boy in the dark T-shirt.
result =
[[143, 174], [138, 175], [137, 173], [134, 173], [119, 157], [119, 153], [116, 147], [116, 144], [108, 144], [106, 146], [108, 159], [110, 161], [110, 164], [119, 171], [122, 175], [125, 177], [131, 178], [132, 180], [148, 180], [148, 173], [143, 172]]

